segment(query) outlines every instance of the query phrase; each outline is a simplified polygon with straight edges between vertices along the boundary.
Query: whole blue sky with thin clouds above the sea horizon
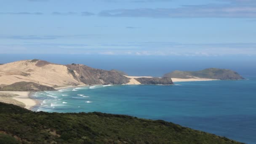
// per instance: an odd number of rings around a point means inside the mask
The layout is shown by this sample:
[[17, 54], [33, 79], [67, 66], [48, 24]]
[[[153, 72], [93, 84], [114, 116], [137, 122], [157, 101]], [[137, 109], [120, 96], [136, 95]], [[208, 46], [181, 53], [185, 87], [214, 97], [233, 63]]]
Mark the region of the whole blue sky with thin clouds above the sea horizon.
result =
[[1, 0], [0, 53], [256, 56], [255, 0]]

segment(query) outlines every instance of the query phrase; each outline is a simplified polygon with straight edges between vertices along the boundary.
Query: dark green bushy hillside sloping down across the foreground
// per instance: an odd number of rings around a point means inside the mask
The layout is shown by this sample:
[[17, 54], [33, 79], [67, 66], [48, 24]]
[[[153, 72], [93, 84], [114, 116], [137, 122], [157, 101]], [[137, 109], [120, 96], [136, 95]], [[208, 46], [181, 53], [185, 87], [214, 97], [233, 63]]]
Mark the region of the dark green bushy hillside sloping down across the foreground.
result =
[[10, 144], [240, 144], [163, 120], [100, 112], [32, 112], [0, 103], [0, 117], [0, 140]]

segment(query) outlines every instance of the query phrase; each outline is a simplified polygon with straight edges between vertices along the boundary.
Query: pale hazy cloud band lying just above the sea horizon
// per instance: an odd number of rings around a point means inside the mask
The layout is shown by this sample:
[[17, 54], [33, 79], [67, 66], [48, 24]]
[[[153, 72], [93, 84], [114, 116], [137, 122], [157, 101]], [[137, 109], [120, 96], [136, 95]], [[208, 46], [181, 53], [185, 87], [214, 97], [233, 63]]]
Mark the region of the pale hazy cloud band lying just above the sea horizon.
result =
[[138, 56], [256, 56], [256, 43], [181, 44], [145, 42], [121, 44], [23, 43], [0, 44], [0, 53], [73, 53]]

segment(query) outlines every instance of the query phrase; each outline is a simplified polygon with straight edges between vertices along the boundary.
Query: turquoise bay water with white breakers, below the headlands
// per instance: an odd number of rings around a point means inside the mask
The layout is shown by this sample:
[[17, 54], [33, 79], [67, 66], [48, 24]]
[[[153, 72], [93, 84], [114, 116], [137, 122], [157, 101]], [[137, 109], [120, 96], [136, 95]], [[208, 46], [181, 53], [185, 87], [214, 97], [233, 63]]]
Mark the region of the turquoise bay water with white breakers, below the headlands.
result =
[[256, 143], [256, 77], [176, 85], [96, 85], [35, 93], [35, 111], [106, 112], [166, 120]]

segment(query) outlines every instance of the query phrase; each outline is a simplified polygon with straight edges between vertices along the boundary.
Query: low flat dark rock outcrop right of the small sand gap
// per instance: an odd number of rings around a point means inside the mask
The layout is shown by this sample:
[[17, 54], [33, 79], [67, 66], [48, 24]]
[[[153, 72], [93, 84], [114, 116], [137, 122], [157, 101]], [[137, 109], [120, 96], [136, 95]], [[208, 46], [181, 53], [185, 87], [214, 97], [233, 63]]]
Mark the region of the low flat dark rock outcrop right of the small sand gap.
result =
[[170, 77], [140, 77], [134, 79], [145, 85], [173, 85], [173, 81]]

